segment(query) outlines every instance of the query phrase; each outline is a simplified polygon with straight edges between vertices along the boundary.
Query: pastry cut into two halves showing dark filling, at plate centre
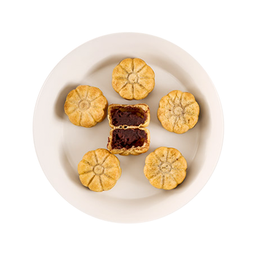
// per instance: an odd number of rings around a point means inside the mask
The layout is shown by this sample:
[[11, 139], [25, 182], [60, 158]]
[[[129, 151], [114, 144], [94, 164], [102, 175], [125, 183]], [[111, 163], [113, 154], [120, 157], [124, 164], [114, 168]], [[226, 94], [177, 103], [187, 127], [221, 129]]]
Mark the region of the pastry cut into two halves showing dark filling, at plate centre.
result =
[[107, 148], [113, 154], [142, 154], [150, 147], [150, 108], [146, 104], [111, 104], [108, 107], [110, 137]]

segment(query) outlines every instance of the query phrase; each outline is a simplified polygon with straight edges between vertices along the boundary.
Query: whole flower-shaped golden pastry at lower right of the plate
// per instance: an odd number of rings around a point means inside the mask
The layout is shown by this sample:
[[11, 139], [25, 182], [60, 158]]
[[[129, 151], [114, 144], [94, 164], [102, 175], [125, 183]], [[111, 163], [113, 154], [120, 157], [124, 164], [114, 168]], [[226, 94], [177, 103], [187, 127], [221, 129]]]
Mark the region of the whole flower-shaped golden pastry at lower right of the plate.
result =
[[162, 146], [146, 157], [144, 174], [154, 187], [172, 190], [185, 179], [186, 168], [180, 151]]

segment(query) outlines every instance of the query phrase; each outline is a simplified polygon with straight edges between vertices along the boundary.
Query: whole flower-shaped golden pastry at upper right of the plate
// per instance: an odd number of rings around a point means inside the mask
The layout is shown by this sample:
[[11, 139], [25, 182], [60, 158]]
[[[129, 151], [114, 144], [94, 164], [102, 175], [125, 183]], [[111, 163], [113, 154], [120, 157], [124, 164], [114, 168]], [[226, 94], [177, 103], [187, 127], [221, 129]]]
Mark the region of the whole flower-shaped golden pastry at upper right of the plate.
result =
[[159, 102], [158, 119], [164, 129], [183, 134], [198, 122], [199, 105], [189, 92], [173, 90]]

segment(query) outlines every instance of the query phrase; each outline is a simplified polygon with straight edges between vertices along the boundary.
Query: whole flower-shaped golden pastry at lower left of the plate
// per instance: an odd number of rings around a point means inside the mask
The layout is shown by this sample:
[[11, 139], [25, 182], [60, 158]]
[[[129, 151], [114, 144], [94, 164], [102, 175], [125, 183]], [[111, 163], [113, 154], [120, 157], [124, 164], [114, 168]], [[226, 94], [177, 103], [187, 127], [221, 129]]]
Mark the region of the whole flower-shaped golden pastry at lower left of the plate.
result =
[[84, 155], [78, 164], [78, 174], [82, 185], [90, 190], [110, 190], [121, 177], [120, 162], [110, 151], [98, 148]]

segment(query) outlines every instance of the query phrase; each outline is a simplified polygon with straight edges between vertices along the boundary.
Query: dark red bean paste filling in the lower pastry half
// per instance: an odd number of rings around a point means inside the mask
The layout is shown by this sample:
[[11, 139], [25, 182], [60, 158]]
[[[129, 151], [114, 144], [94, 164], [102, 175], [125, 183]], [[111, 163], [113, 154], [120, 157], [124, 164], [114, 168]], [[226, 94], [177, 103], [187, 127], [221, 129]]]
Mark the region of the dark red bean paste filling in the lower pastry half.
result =
[[112, 148], [120, 150], [121, 148], [132, 148], [132, 146], [143, 146], [147, 140], [145, 130], [140, 129], [114, 129]]

